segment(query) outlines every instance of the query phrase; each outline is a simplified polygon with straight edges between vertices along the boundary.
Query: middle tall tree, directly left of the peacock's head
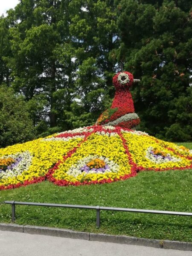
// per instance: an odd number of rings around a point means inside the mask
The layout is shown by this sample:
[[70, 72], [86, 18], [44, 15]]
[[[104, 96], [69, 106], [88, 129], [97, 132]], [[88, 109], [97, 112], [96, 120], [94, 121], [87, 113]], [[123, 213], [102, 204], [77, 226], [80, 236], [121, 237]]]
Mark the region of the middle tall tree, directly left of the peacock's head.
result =
[[72, 0], [70, 36], [75, 49], [75, 99], [65, 111], [73, 127], [96, 122], [114, 95], [112, 77], [116, 61], [111, 54], [119, 45], [113, 0]]

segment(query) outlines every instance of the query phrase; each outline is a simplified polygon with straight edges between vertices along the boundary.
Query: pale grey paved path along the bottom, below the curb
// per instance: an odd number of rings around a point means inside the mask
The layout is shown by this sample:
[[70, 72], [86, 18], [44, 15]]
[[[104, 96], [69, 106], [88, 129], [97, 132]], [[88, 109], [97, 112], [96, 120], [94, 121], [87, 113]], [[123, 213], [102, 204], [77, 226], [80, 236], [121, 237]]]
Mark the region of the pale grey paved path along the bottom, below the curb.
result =
[[0, 255], [192, 256], [192, 252], [0, 231]]

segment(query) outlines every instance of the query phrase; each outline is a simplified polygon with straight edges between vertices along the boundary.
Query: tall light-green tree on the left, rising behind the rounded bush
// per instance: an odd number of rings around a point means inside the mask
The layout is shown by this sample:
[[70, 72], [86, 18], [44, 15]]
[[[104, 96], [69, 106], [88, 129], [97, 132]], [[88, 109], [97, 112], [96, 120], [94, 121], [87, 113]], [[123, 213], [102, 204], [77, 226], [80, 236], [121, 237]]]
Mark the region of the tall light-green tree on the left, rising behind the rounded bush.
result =
[[[7, 58], [14, 77], [12, 86], [30, 102], [34, 125], [39, 127], [44, 123], [46, 129], [57, 126], [61, 115], [57, 101], [63, 89], [63, 100], [69, 98], [70, 78], [66, 78], [66, 67], [59, 61], [59, 49], [70, 41], [69, 2], [23, 0], [6, 18], [12, 24], [9, 28], [12, 56]], [[68, 64], [71, 65], [71, 59]], [[36, 106], [38, 111], [41, 109], [41, 121]]]

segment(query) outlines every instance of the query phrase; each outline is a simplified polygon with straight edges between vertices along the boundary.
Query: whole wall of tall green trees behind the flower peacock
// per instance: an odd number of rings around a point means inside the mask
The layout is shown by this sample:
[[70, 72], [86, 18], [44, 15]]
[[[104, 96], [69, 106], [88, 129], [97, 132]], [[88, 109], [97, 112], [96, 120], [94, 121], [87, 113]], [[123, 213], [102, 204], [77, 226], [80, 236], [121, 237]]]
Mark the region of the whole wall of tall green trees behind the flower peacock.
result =
[[25, 96], [40, 136], [95, 123], [128, 70], [141, 79], [140, 129], [191, 140], [191, 11], [188, 0], [20, 1], [0, 17], [0, 84]]

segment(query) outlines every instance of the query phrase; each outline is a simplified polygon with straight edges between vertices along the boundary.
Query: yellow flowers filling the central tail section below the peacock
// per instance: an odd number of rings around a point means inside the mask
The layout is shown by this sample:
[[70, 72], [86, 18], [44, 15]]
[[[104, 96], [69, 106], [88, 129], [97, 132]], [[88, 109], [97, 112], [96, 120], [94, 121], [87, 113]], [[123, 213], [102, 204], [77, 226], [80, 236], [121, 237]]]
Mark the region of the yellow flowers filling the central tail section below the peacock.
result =
[[[118, 165], [118, 172], [113, 172], [113, 167], [111, 167], [111, 172], [104, 173], [81, 173], [78, 176], [69, 175], [67, 171], [72, 167], [76, 166], [79, 161], [83, 160], [85, 157], [90, 155], [97, 157], [106, 157], [113, 161], [114, 164]], [[83, 163], [83, 161], [82, 161]], [[79, 167], [77, 166], [77, 169]], [[77, 170], [78, 171], [78, 170]], [[125, 174], [131, 173], [131, 166], [128, 162], [128, 156], [125, 153], [125, 148], [123, 147], [122, 140], [119, 135], [108, 137], [107, 135], [91, 134], [77, 151], [66, 161], [58, 166], [55, 170], [53, 177], [57, 180], [66, 180], [70, 182], [82, 182], [93, 181], [93, 180], [104, 180], [115, 178], [119, 179]]]

